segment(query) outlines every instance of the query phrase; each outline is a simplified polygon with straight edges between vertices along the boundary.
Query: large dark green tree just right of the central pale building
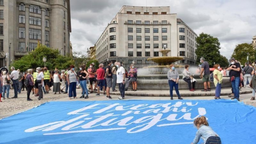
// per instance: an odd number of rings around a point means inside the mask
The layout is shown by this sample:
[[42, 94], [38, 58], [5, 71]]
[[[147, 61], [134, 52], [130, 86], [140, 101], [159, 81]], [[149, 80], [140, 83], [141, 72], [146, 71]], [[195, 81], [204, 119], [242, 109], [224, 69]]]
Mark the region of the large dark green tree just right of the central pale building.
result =
[[200, 62], [200, 58], [204, 57], [208, 61], [210, 67], [215, 64], [220, 64], [221, 67], [228, 66], [226, 57], [220, 55], [220, 42], [217, 37], [209, 34], [201, 33], [196, 38], [196, 62]]

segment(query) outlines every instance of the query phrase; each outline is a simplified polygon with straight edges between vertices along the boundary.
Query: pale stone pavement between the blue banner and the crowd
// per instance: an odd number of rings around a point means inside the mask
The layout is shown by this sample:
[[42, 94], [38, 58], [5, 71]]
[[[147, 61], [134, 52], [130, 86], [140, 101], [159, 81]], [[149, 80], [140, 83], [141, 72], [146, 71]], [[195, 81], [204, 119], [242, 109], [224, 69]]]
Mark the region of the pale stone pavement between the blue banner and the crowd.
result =
[[[82, 101], [93, 101], [93, 100], [109, 100], [106, 99], [106, 95], [103, 95], [101, 92], [100, 96], [95, 96], [96, 93], [89, 94], [89, 99], [80, 99], [81, 96], [81, 89], [77, 90], [77, 99], [68, 99], [67, 94], [56, 94], [54, 95], [52, 91], [50, 91], [49, 94], [44, 95], [44, 99], [37, 100], [37, 97], [32, 95], [30, 98], [33, 99], [33, 101], [27, 101], [27, 92], [22, 91], [21, 94], [18, 95], [17, 99], [10, 99], [10, 100], [2, 100], [3, 102], [0, 102], [0, 119], [6, 116], [11, 116], [13, 114], [28, 110], [30, 108], [34, 108], [36, 106], [39, 106], [42, 103], [49, 102], [49, 101], [74, 101], [74, 100], [82, 100]], [[111, 91], [111, 90], [110, 90]], [[241, 102], [244, 102], [245, 104], [252, 105], [256, 107], [256, 100], [250, 100], [252, 97], [252, 89], [250, 88], [242, 88], [240, 95]], [[230, 99], [228, 95], [230, 94], [230, 88], [222, 89], [221, 90], [221, 99]], [[111, 92], [112, 100], [119, 100], [119, 92]], [[197, 90], [195, 92], [189, 92], [188, 90], [180, 90], [180, 95], [183, 97], [183, 99], [186, 100], [213, 100], [214, 99], [214, 93], [215, 90], [212, 89], [211, 92], [201, 92], [200, 90]], [[10, 90], [10, 97], [12, 97], [14, 94], [13, 90]], [[116, 94], [116, 95], [114, 95]], [[173, 94], [175, 94], [175, 91], [173, 91]], [[213, 94], [213, 96], [211, 96]], [[170, 100], [170, 94], [168, 90], [138, 90], [136, 92], [131, 91], [130, 89], [125, 92], [125, 100]], [[187, 96], [187, 97], [186, 97]], [[174, 100], [177, 99], [177, 97], [173, 98]]]

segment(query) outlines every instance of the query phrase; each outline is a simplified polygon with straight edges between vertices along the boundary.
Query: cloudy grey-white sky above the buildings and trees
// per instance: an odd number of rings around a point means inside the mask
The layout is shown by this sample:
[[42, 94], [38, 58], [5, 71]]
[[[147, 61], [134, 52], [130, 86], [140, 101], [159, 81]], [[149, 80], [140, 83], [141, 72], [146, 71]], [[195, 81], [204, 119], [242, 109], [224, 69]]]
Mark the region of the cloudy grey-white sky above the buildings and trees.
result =
[[[71, 0], [73, 51], [86, 54], [123, 5], [146, 6], [146, 0]], [[147, 0], [147, 6], [170, 6], [197, 35], [218, 37], [220, 52], [230, 58], [236, 44], [256, 35], [256, 0]]]

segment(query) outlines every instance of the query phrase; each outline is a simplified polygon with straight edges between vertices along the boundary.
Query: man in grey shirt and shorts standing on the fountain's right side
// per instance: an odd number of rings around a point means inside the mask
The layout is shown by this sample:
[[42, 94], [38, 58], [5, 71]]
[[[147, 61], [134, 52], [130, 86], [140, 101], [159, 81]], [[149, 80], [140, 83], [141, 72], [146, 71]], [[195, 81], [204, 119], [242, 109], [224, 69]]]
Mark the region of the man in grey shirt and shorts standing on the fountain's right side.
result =
[[[210, 92], [211, 91], [211, 86], [210, 86], [210, 67], [209, 67], [209, 63], [207, 61], [205, 61], [204, 58], [200, 58], [200, 62], [202, 63], [200, 77], [202, 78], [202, 81], [204, 83], [204, 89], [202, 90], [202, 92], [207, 92], [207, 91]], [[207, 88], [207, 85], [208, 85], [208, 88]]]

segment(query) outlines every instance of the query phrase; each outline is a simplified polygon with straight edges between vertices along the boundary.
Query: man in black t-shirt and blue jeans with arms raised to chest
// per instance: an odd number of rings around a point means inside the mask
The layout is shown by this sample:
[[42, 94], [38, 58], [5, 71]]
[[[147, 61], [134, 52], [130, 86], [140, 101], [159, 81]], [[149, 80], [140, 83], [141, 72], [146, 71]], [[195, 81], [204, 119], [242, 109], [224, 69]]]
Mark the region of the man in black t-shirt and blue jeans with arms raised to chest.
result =
[[230, 70], [229, 72], [229, 77], [230, 77], [230, 81], [233, 87], [233, 91], [234, 91], [234, 98], [232, 98], [231, 100], [237, 99], [239, 100], [239, 85], [240, 85], [240, 71], [241, 71], [241, 66], [238, 62], [235, 62], [234, 58], [231, 58], [230, 60], [230, 67], [228, 67], [227, 70]]

